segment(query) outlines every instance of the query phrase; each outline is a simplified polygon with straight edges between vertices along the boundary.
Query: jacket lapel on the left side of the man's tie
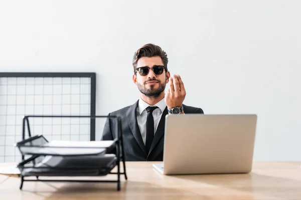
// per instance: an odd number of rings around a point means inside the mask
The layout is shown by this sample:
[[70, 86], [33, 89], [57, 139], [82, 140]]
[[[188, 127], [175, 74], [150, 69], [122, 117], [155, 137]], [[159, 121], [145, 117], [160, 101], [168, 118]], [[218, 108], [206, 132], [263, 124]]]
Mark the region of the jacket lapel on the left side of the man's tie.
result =
[[136, 139], [136, 141], [138, 142], [140, 148], [142, 149], [142, 151], [146, 155], [145, 145], [143, 143], [143, 139], [142, 139], [142, 136], [141, 136], [141, 133], [140, 133], [138, 123], [137, 123], [137, 114], [136, 114], [137, 106], [138, 106], [138, 101], [127, 108], [126, 118], [127, 118], [128, 126], [129, 126], [130, 130], [132, 131], [132, 133], [134, 135], [134, 138]]

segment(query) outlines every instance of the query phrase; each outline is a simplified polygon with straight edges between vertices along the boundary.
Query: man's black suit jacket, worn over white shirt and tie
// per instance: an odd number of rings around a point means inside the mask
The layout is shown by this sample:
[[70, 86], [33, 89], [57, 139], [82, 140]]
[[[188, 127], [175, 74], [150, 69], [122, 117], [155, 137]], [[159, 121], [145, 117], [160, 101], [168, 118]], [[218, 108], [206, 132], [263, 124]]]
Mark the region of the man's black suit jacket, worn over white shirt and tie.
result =
[[[122, 123], [122, 135], [124, 143], [124, 153], [126, 161], [163, 161], [165, 116], [168, 114], [167, 107], [163, 111], [158, 124], [153, 143], [149, 153], [145, 152], [145, 145], [139, 130], [136, 116], [138, 101], [134, 104], [116, 110], [108, 116], [120, 116]], [[201, 108], [187, 106], [183, 104], [184, 113], [204, 113]], [[107, 118], [101, 140], [113, 140], [116, 137], [116, 120]]]

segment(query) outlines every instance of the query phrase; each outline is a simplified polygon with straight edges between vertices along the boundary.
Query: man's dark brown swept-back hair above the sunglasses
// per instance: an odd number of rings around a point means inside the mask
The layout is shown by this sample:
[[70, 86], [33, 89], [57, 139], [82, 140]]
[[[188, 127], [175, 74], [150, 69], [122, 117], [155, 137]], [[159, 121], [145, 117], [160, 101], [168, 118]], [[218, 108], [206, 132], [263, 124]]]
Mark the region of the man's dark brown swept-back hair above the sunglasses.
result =
[[153, 56], [160, 56], [164, 66], [166, 66], [166, 71], [168, 71], [167, 69], [168, 58], [166, 52], [162, 50], [160, 46], [152, 43], [148, 43], [143, 45], [134, 53], [134, 57], [133, 57], [134, 73], [136, 71], [137, 62], [138, 59], [140, 59], [140, 57], [153, 57]]

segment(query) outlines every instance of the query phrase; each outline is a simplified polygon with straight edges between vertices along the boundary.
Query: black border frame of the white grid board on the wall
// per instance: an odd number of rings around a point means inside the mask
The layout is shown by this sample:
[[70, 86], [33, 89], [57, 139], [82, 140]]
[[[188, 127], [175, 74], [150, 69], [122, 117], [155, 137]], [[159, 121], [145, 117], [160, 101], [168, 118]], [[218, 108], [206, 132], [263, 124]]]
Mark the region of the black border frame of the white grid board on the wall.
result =
[[[95, 72], [0, 72], [0, 77], [90, 77], [90, 115], [96, 112], [96, 73]], [[90, 141], [95, 140], [95, 118], [90, 118]]]

